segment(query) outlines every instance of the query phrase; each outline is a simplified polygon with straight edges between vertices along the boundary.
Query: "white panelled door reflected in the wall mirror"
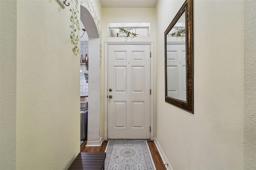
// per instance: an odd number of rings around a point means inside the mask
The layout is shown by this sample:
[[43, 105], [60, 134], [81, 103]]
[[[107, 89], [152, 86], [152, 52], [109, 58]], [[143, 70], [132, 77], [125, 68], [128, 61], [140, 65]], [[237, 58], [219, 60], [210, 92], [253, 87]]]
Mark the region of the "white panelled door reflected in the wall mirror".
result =
[[186, 45], [168, 44], [167, 96], [186, 101]]

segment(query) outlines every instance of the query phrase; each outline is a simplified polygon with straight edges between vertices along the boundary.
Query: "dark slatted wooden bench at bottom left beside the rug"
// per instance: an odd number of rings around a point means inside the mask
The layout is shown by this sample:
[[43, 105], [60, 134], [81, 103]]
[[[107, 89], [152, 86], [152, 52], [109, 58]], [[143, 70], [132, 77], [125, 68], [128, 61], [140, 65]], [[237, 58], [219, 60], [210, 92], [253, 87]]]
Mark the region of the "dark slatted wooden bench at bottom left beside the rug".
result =
[[104, 170], [105, 158], [105, 152], [80, 152], [68, 170]]

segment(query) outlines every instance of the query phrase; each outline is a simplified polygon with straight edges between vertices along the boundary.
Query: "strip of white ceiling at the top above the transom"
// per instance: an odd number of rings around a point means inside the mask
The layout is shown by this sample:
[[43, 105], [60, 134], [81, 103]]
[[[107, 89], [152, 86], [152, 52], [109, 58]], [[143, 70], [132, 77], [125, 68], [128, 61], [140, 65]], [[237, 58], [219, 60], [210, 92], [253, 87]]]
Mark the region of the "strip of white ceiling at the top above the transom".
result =
[[102, 8], [155, 8], [157, 0], [100, 0]]

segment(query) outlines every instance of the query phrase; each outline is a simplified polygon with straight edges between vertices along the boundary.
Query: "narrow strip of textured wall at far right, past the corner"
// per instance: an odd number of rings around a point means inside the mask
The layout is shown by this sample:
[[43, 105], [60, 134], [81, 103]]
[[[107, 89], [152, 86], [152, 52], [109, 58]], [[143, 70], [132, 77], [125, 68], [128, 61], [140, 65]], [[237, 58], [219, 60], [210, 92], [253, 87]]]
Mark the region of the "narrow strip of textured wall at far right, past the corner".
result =
[[244, 169], [256, 169], [256, 1], [244, 5]]

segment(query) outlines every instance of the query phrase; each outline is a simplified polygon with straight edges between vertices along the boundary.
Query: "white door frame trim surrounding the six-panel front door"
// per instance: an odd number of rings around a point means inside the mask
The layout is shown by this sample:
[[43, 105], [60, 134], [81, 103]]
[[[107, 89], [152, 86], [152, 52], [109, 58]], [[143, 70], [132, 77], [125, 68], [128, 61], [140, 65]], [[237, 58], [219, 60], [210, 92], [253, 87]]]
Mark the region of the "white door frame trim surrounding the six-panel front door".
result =
[[154, 42], [105, 42], [104, 140], [108, 140], [108, 45], [150, 45], [150, 140], [154, 140]]

